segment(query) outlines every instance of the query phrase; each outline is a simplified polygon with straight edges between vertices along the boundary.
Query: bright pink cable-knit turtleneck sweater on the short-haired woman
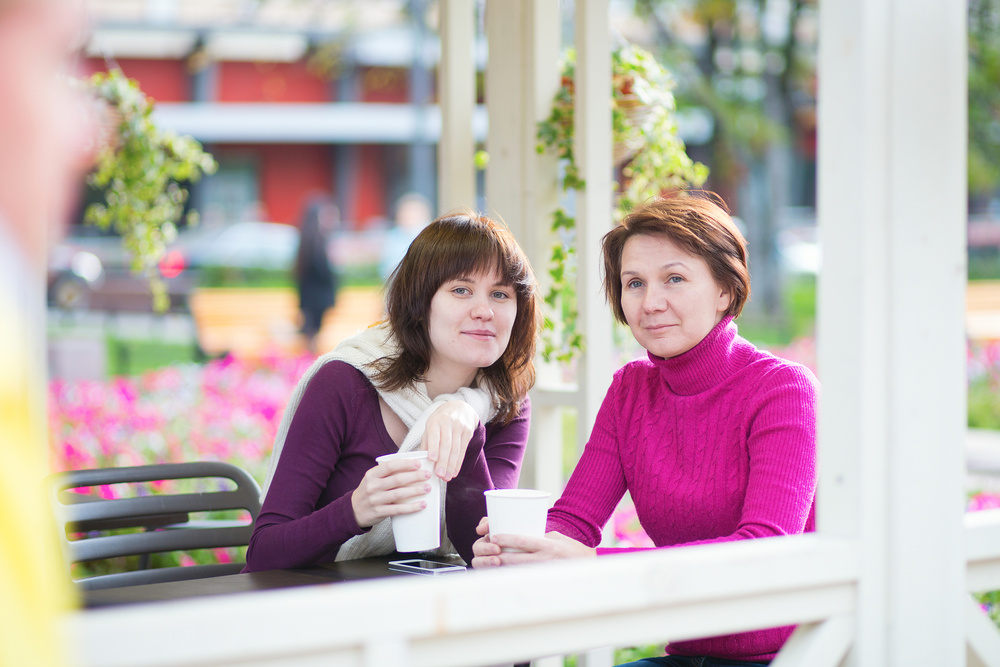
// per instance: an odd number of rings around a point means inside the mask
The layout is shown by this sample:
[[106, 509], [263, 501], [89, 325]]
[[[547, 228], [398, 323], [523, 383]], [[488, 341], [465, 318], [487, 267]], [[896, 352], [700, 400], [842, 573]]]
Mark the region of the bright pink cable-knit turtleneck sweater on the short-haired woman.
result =
[[[815, 530], [817, 392], [808, 369], [758, 350], [729, 317], [684, 354], [625, 365], [548, 530], [597, 546], [626, 491], [658, 548]], [[666, 650], [770, 660], [792, 629]]]

